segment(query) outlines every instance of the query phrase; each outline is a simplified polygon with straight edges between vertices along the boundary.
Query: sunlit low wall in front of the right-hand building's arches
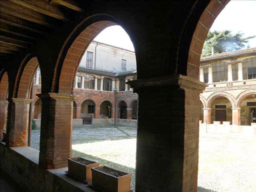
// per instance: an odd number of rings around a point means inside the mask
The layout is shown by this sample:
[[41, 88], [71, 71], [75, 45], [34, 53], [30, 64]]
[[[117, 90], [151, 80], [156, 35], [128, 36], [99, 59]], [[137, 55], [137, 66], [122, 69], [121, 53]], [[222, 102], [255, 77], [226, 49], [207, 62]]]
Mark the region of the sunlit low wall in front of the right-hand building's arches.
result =
[[199, 123], [200, 134], [214, 133], [223, 135], [237, 135], [245, 137], [256, 137], [256, 126], [247, 125], [215, 125]]

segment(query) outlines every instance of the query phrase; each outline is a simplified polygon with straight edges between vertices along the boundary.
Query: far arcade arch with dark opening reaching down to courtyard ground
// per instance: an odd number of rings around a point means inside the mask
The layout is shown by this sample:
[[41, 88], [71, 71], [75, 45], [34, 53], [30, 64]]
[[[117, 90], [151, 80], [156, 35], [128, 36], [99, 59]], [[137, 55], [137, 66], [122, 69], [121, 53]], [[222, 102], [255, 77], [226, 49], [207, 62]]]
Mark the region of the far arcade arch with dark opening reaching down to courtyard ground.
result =
[[95, 103], [92, 100], [85, 100], [81, 104], [81, 118], [83, 124], [91, 124], [92, 119], [95, 117]]

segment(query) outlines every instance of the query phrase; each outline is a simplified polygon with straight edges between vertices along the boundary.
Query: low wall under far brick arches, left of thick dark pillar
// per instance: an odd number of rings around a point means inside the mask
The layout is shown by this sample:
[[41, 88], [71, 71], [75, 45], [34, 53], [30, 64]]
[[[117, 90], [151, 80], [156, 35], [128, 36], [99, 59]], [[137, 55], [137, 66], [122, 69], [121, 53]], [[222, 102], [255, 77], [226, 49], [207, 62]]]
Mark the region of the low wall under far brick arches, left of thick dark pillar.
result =
[[[93, 125], [114, 125], [114, 118], [93, 118]], [[137, 126], [137, 120], [116, 118], [116, 125]]]

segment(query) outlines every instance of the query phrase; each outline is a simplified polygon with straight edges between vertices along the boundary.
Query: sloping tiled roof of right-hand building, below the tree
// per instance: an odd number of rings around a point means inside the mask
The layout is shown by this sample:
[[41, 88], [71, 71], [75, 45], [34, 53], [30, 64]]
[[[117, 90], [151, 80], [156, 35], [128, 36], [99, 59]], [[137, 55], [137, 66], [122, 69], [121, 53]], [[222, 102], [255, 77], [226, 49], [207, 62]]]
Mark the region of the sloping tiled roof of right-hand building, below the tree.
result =
[[206, 57], [201, 57], [201, 62], [208, 61], [208, 60], [217, 60], [220, 58], [226, 58], [226, 57], [234, 57], [238, 55], [246, 55], [246, 54], [251, 54], [255, 53], [256, 54], [256, 48], [247, 48], [247, 49], [242, 49], [242, 50], [235, 50], [227, 53], [218, 53], [215, 55], [209, 55]]

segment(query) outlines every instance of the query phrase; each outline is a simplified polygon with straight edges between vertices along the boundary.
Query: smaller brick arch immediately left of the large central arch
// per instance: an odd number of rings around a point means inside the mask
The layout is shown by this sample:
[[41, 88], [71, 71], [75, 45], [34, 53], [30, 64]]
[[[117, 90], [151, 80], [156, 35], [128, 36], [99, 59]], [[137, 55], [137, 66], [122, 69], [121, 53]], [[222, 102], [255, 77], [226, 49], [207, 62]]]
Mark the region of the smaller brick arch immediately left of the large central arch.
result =
[[18, 76], [15, 78], [13, 97], [29, 99], [34, 74], [39, 67], [39, 61], [34, 55], [27, 55], [20, 65]]

